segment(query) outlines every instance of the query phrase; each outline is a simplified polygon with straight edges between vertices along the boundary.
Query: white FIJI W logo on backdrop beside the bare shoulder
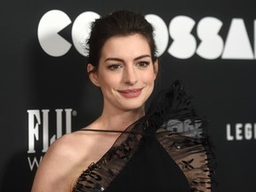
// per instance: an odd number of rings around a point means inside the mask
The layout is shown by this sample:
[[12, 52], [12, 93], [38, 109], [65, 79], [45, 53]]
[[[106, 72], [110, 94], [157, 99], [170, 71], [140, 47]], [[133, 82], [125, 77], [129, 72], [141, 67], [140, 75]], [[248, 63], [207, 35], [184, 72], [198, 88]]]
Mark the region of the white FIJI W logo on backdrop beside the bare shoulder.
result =
[[[52, 129], [49, 129], [49, 120], [52, 121], [49, 118], [50, 109], [29, 109], [27, 112], [28, 164], [32, 171], [34, 167], [38, 167], [43, 159], [43, 155], [40, 157], [36, 156], [36, 152], [39, 150], [38, 146], [40, 146], [40, 153], [45, 153], [54, 140], [59, 139], [63, 134], [71, 132], [71, 120], [72, 116], [76, 116], [76, 110], [72, 108], [55, 109], [56, 130], [54, 131], [56, 132], [52, 135]], [[64, 128], [63, 123], [66, 124]]]

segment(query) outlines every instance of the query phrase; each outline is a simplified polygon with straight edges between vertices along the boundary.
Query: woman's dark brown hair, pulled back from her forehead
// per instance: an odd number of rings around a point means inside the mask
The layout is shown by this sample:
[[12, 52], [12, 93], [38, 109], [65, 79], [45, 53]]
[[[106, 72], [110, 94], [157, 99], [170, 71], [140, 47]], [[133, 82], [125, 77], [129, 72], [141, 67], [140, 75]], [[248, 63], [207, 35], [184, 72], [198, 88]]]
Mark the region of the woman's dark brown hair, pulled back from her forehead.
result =
[[113, 36], [130, 36], [140, 34], [149, 44], [153, 62], [156, 61], [156, 43], [154, 41], [154, 28], [140, 13], [130, 11], [117, 11], [110, 13], [92, 22], [91, 36], [87, 40], [88, 63], [97, 70], [100, 53], [108, 38]]

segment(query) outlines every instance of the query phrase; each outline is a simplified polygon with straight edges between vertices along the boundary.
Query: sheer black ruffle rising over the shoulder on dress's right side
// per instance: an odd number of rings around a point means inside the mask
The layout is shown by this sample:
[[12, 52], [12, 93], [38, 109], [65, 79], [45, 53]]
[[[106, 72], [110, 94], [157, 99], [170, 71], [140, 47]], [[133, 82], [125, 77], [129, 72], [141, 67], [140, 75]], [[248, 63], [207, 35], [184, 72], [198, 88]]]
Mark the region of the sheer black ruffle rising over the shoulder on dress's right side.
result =
[[156, 137], [186, 174], [191, 191], [209, 191], [215, 181], [215, 158], [206, 125], [181, 81], [159, 92], [148, 110]]

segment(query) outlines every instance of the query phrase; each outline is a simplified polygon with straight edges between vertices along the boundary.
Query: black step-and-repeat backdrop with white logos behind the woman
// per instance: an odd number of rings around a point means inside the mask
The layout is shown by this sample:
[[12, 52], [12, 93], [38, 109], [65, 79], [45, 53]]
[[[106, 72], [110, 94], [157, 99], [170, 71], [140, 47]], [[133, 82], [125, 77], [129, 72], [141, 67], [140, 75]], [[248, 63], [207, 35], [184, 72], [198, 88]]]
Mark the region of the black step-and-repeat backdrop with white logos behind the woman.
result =
[[120, 9], [141, 12], [156, 28], [154, 94], [181, 79], [197, 113], [209, 119], [215, 191], [256, 191], [254, 0], [25, 0], [0, 7], [0, 191], [30, 191], [52, 142], [100, 115], [83, 42], [92, 20]]

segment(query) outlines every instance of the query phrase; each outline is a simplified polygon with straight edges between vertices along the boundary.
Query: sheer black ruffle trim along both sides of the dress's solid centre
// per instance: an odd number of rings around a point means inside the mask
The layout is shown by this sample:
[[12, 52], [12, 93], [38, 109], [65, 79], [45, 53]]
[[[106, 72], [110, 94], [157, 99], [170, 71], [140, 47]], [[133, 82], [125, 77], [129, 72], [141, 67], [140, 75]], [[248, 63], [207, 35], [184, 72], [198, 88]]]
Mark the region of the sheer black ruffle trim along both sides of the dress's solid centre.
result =
[[140, 145], [156, 137], [186, 175], [191, 191], [211, 191], [214, 153], [207, 136], [207, 120], [198, 116], [182, 83], [156, 95], [145, 116], [130, 125], [113, 147], [78, 178], [73, 192], [104, 191], [122, 172]]

